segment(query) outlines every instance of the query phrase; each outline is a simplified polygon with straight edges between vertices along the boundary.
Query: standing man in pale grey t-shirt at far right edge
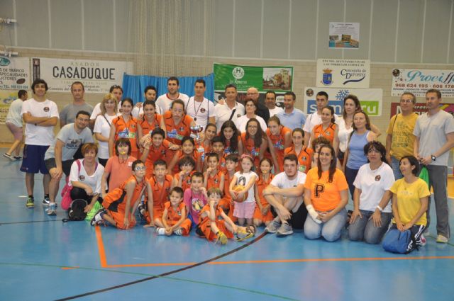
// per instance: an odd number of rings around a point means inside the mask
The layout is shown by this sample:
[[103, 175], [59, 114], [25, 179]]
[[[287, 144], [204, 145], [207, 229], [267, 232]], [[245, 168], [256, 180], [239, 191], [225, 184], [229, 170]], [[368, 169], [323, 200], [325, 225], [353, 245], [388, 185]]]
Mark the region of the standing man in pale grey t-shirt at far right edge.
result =
[[[446, 244], [450, 237], [448, 213], [448, 157], [454, 147], [454, 118], [441, 110], [441, 92], [430, 89], [426, 92], [427, 113], [416, 120], [413, 135], [414, 157], [427, 167], [429, 189], [433, 188], [437, 216], [437, 242]], [[430, 223], [428, 198], [427, 229]]]

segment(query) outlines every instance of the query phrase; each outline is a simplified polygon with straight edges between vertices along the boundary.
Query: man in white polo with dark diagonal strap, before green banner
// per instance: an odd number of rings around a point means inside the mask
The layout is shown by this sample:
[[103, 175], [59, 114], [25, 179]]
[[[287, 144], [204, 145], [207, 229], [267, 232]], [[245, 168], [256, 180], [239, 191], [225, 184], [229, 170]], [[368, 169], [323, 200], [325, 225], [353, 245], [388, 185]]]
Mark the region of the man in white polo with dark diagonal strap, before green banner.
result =
[[227, 120], [232, 120], [235, 123], [236, 120], [238, 120], [238, 118], [243, 116], [245, 113], [244, 106], [236, 101], [238, 92], [236, 91], [235, 85], [228, 84], [226, 86], [225, 94], [225, 103], [218, 103], [216, 106], [214, 106], [216, 127], [218, 128], [218, 132], [221, 131], [223, 123], [225, 123]]

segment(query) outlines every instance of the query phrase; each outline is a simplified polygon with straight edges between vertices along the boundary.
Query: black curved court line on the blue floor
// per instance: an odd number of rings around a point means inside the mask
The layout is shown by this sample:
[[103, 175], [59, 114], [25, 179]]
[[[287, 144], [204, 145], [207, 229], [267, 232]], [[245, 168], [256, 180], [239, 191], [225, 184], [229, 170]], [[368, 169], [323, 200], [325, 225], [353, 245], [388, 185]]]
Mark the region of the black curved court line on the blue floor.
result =
[[128, 283], [114, 285], [114, 286], [111, 286], [110, 288], [103, 288], [102, 290], [93, 290], [92, 292], [83, 293], [83, 294], [80, 294], [80, 295], [74, 295], [74, 296], [71, 296], [71, 297], [65, 297], [65, 298], [62, 298], [62, 299], [57, 299], [56, 301], [73, 300], [73, 299], [77, 299], [77, 298], [80, 298], [80, 297], [85, 297], [85, 296], [89, 296], [89, 295], [95, 295], [95, 294], [99, 294], [99, 293], [104, 293], [104, 292], [107, 292], [109, 290], [116, 290], [117, 288], [124, 288], [125, 286], [134, 285], [134, 284], [142, 283], [142, 282], [145, 282], [145, 281], [148, 281], [148, 280], [153, 280], [153, 279], [156, 279], [156, 278], [165, 277], [165, 276], [169, 276], [169, 275], [172, 275], [172, 274], [175, 274], [175, 273], [186, 271], [186, 270], [189, 270], [190, 268], [195, 268], [197, 266], [204, 265], [205, 263], [209, 263], [211, 261], [216, 261], [216, 260], [221, 259], [221, 258], [223, 258], [225, 256], [228, 256], [228, 255], [233, 254], [233, 253], [235, 253], [237, 251], [240, 251], [241, 249], [244, 249], [245, 247], [250, 246], [251, 244], [253, 244], [255, 242], [258, 242], [260, 239], [265, 237], [266, 234], [267, 234], [267, 232], [262, 232], [262, 234], [260, 234], [258, 237], [255, 237], [255, 239], [251, 240], [250, 242], [247, 242], [247, 243], [243, 244], [243, 246], [238, 246], [238, 248], [236, 248], [236, 249], [233, 249], [231, 251], [228, 251], [228, 252], [226, 252], [224, 254], [218, 255], [218, 256], [213, 257], [211, 259], [207, 259], [206, 261], [201, 261], [199, 263], [194, 263], [191, 266], [185, 266], [184, 268], [178, 268], [177, 270], [173, 270], [173, 271], [169, 271], [169, 272], [166, 272], [166, 273], [162, 273], [160, 275], [150, 276], [150, 277], [147, 277], [147, 278], [131, 281], [131, 282], [128, 282]]

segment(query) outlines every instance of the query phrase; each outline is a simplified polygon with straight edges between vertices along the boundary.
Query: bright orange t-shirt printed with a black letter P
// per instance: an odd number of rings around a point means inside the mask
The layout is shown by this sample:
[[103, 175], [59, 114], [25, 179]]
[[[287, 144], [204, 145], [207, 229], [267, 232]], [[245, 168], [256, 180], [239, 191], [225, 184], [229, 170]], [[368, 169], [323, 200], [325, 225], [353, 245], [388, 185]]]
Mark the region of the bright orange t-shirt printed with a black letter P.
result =
[[341, 202], [341, 193], [348, 189], [347, 180], [343, 172], [336, 169], [333, 181], [328, 182], [329, 171], [323, 171], [319, 178], [318, 168], [314, 167], [307, 172], [304, 188], [311, 190], [311, 201], [317, 211], [330, 211], [336, 208]]

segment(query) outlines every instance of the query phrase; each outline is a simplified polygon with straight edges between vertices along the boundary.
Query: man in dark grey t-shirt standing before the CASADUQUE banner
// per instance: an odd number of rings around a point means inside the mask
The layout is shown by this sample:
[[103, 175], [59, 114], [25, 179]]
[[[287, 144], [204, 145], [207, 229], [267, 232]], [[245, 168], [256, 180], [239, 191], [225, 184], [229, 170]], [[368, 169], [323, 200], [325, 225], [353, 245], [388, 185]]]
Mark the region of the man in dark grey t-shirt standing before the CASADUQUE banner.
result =
[[71, 93], [73, 99], [72, 103], [68, 104], [60, 111], [60, 128], [68, 123], [74, 123], [76, 114], [81, 110], [85, 110], [90, 114], [93, 112], [93, 107], [84, 100], [85, 87], [82, 82], [74, 81], [71, 85]]

